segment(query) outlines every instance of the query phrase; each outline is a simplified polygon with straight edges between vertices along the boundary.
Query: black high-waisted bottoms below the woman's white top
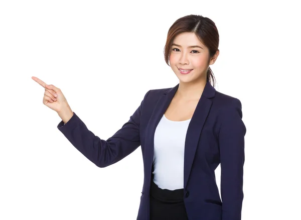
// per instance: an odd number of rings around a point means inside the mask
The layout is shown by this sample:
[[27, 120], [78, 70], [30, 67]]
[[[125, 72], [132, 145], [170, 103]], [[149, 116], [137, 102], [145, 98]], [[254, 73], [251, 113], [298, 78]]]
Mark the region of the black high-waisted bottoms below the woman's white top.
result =
[[188, 220], [184, 205], [184, 189], [161, 189], [150, 183], [150, 220]]

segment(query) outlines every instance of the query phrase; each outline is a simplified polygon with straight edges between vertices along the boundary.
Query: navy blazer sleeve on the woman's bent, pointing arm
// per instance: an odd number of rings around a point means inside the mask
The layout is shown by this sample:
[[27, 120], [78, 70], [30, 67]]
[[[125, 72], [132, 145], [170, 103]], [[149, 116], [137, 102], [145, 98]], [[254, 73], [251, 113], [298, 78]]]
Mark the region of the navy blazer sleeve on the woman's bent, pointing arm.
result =
[[89, 131], [74, 112], [72, 118], [65, 125], [61, 121], [57, 128], [79, 152], [96, 166], [106, 167], [114, 164], [140, 146], [140, 114], [149, 91], [146, 92], [129, 121], [107, 140], [102, 140]]

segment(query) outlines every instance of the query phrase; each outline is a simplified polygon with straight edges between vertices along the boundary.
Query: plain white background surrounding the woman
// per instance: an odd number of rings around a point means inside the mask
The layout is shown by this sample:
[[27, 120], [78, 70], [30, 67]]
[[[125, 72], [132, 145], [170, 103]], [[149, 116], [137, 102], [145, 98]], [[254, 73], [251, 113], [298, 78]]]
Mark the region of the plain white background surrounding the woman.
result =
[[[0, 219], [136, 219], [141, 148], [98, 168], [57, 129], [42, 103], [61, 88], [101, 139], [129, 120], [149, 89], [178, 83], [167, 32], [190, 14], [212, 19], [216, 89], [242, 102], [242, 219], [300, 217], [298, 1], [1, 1]], [[216, 169], [220, 187], [220, 167]]]

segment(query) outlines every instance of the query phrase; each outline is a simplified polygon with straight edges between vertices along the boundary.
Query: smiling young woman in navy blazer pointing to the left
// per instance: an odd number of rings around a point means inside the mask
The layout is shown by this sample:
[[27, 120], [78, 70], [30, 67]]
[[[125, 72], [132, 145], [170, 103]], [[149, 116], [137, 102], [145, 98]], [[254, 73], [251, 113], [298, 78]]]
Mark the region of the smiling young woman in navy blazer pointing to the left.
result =
[[[114, 164], [141, 146], [139, 220], [241, 219], [246, 127], [240, 100], [214, 88], [209, 65], [219, 55], [218, 45], [218, 30], [209, 18], [178, 19], [168, 32], [165, 60], [179, 84], [146, 92], [108, 140], [87, 129], [59, 88], [33, 77], [45, 87], [43, 103], [62, 119], [58, 129], [97, 166]], [[219, 164], [221, 198], [214, 172]]]

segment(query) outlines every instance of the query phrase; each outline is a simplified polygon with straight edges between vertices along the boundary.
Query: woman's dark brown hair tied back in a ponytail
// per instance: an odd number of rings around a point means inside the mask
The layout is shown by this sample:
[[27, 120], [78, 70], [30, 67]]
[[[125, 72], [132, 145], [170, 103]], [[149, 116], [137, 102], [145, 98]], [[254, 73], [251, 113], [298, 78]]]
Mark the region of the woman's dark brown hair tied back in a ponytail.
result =
[[[209, 18], [200, 15], [188, 15], [175, 21], [168, 31], [167, 40], [164, 47], [164, 58], [167, 65], [170, 66], [169, 58], [173, 40], [178, 34], [184, 32], [195, 33], [202, 44], [208, 47], [210, 58], [218, 50], [219, 34], [215, 23]], [[216, 80], [210, 67], [207, 70], [207, 81], [208, 80], [214, 87]]]

